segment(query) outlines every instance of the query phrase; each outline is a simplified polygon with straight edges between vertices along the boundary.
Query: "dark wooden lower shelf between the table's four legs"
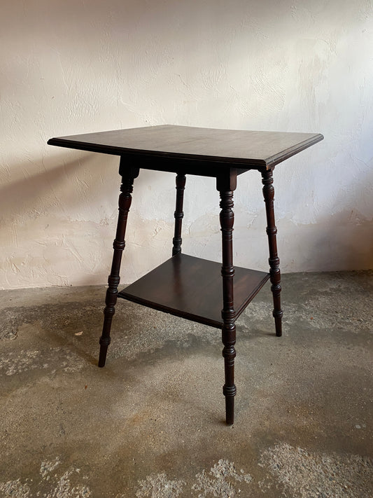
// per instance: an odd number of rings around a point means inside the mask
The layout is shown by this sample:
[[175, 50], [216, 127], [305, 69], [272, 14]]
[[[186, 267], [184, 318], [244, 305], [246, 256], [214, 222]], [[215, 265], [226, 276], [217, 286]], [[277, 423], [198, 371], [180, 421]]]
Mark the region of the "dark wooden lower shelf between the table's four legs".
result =
[[[177, 317], [221, 328], [221, 264], [176, 254], [118, 293], [118, 297]], [[234, 267], [234, 310], [241, 312], [269, 279], [269, 273]]]

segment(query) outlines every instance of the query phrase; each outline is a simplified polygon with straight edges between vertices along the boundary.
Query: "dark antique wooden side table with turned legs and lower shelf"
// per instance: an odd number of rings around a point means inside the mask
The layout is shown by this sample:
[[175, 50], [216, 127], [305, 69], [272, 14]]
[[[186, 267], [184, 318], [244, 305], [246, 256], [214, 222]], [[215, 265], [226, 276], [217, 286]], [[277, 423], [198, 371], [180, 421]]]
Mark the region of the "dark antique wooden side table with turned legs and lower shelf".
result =
[[[213, 130], [187, 126], [150, 126], [52, 138], [48, 144], [120, 155], [122, 177], [113, 264], [108, 277], [104, 326], [99, 340], [99, 366], [104, 366], [110, 344], [111, 321], [117, 297], [153, 307], [178, 317], [222, 329], [225, 362], [225, 415], [234, 421], [234, 322], [268, 279], [272, 283], [276, 336], [281, 336], [280, 269], [274, 221], [273, 170], [279, 162], [321, 141], [323, 135], [288, 132]], [[120, 261], [125, 249], [127, 216], [134, 179], [139, 170], [176, 173], [175, 232], [172, 257], [118, 293]], [[267, 212], [269, 273], [234, 268], [232, 257], [233, 191], [237, 177], [248, 170], [262, 175]], [[181, 223], [185, 175], [216, 178], [220, 193], [222, 265], [181, 253]], [[221, 269], [221, 276], [220, 276]]]

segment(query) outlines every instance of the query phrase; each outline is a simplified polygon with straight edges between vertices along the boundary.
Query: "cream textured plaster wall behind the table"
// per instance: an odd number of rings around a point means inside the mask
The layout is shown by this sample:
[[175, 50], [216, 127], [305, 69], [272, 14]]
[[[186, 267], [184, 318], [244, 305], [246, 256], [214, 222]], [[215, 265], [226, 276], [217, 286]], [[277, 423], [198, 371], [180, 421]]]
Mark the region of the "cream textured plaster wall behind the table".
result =
[[[106, 281], [118, 158], [48, 138], [144, 125], [321, 132], [275, 170], [284, 272], [373, 267], [373, 9], [357, 0], [13, 0], [0, 18], [0, 287]], [[235, 263], [267, 268], [260, 175]], [[171, 252], [174, 176], [134, 186], [122, 282]], [[188, 178], [184, 251], [220, 260], [218, 193]]]

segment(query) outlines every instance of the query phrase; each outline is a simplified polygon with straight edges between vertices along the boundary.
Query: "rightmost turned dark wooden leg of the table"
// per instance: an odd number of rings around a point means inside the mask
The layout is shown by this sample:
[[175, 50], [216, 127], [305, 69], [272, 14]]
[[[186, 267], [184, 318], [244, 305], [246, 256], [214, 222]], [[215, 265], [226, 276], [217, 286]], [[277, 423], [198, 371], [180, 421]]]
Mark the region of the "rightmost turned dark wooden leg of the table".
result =
[[267, 235], [269, 244], [269, 275], [271, 279], [271, 290], [274, 300], [274, 324], [276, 328], [276, 336], [282, 335], [282, 316], [281, 310], [281, 272], [280, 259], [277, 254], [276, 233], [277, 228], [274, 222], [274, 186], [272, 170], [262, 172], [263, 196], [265, 198], [265, 210], [267, 213]]

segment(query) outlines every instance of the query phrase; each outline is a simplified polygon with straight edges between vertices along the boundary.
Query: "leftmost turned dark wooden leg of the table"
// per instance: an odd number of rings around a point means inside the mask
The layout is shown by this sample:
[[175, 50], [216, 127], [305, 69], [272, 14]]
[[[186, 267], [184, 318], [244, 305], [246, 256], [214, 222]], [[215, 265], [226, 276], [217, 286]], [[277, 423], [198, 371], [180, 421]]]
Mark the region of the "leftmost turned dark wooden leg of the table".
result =
[[[122, 162], [122, 160], [121, 160]], [[111, 321], [113, 320], [113, 315], [115, 313], [115, 304], [118, 297], [118, 285], [120, 282], [120, 263], [122, 261], [122, 252], [125, 249], [125, 231], [127, 227], [127, 217], [129, 212], [129, 207], [131, 207], [132, 202], [132, 190], [134, 179], [139, 175], [139, 169], [123, 167], [122, 174], [122, 184], [120, 186], [119, 195], [119, 214], [118, 214], [118, 225], [115, 235], [115, 240], [113, 242], [113, 263], [111, 265], [111, 272], [108, 277], [108, 289], [106, 291], [106, 307], [104, 309], [104, 325], [102, 327], [102, 335], [99, 340], [100, 352], [99, 352], [99, 367], [105, 366], [106, 353], [108, 351], [108, 345], [110, 344], [110, 331], [111, 331]], [[120, 169], [121, 172], [121, 169]]]

